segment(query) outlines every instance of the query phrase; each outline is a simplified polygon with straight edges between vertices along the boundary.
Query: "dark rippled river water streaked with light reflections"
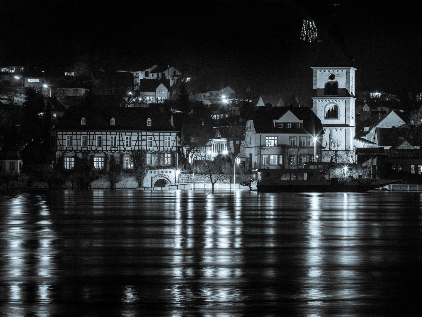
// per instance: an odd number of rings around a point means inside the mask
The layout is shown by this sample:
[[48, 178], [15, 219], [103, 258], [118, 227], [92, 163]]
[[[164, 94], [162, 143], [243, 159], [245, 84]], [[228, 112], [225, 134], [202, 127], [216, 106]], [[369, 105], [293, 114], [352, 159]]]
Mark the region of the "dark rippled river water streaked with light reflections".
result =
[[422, 194], [0, 192], [0, 316], [419, 316]]

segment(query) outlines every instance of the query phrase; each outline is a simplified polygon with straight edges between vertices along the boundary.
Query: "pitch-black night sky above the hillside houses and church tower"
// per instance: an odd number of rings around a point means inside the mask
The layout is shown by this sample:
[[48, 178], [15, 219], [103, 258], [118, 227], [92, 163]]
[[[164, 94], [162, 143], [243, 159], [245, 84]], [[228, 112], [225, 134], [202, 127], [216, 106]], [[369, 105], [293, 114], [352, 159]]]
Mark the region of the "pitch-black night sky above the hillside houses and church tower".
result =
[[[358, 68], [357, 91], [422, 91], [422, 26], [409, 3], [380, 1], [8, 1], [0, 63], [41, 66], [81, 56], [177, 66], [211, 86], [311, 93], [319, 44], [300, 41], [312, 17], [319, 38], [337, 19]], [[103, 63], [106, 67], [107, 62]], [[214, 87], [209, 87], [213, 89]]]

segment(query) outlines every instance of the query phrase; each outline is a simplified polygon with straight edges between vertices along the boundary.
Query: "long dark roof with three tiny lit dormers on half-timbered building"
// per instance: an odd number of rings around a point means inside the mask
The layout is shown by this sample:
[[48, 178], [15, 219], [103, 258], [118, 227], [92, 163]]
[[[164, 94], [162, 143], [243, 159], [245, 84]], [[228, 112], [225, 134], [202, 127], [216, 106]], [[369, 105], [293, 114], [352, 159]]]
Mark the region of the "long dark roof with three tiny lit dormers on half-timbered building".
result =
[[[81, 119], [85, 118], [85, 126]], [[115, 125], [110, 125], [114, 118]], [[146, 119], [151, 118], [151, 126]], [[155, 108], [106, 108], [89, 109], [70, 107], [59, 118], [56, 130], [129, 130], [129, 131], [177, 131], [161, 112]]]

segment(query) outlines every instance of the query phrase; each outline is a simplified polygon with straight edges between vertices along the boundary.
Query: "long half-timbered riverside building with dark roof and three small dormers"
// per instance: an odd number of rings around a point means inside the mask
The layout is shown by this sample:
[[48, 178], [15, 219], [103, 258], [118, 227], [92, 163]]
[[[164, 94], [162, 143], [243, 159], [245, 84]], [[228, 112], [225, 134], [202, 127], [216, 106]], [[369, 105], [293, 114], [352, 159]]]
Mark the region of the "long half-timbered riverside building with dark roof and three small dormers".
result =
[[149, 166], [144, 186], [176, 182], [181, 151], [176, 129], [159, 109], [70, 107], [51, 131], [55, 163], [75, 167], [75, 158], [87, 153], [94, 168], [104, 169], [110, 155], [123, 159], [123, 168], [133, 168], [133, 153], [144, 150]]

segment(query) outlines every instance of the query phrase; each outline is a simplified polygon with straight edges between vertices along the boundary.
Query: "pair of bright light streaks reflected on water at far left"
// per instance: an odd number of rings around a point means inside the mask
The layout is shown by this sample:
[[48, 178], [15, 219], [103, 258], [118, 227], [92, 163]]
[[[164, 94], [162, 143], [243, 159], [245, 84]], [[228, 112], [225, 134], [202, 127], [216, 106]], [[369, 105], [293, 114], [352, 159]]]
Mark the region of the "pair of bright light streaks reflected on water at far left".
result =
[[[9, 301], [3, 306], [6, 315], [29, 312], [22, 303], [35, 298], [37, 314], [46, 311], [51, 302], [54, 281], [57, 238], [51, 229], [50, 210], [43, 195], [18, 194], [2, 201], [2, 284]], [[48, 309], [47, 309], [48, 310]]]

